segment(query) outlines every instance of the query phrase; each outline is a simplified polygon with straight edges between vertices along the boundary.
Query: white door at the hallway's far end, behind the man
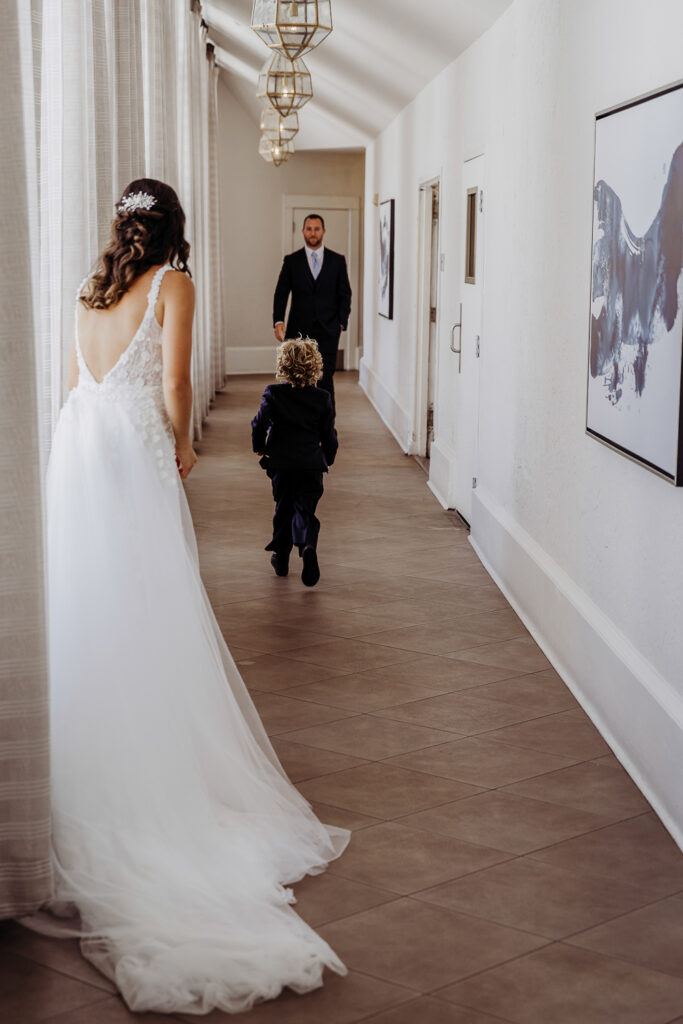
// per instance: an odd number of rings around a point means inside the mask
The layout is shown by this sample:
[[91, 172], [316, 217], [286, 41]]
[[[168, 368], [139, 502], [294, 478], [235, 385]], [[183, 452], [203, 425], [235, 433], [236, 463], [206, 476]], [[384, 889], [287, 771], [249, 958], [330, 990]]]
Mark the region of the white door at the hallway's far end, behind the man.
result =
[[309, 202], [308, 197], [286, 197], [286, 216], [288, 218], [285, 232], [286, 252], [301, 249], [303, 245], [301, 229], [304, 217], [309, 213], [319, 213], [325, 219], [325, 245], [346, 257], [353, 294], [348, 330], [342, 332], [339, 339], [339, 349], [344, 353], [344, 370], [357, 370], [359, 364], [358, 307], [360, 304], [357, 200], [352, 203], [347, 198], [335, 199], [332, 196], [318, 197], [317, 199], [310, 197], [310, 200]]

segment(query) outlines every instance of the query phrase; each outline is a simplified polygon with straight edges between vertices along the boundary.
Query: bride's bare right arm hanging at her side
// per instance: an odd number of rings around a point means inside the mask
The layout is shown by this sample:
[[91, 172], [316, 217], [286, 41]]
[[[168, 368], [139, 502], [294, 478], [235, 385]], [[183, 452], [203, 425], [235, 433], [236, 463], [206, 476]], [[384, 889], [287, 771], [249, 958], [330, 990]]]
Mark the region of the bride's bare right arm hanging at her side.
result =
[[189, 438], [193, 413], [190, 361], [195, 286], [186, 273], [169, 271], [162, 282], [159, 301], [163, 324], [164, 401], [173, 433], [180, 476], [184, 479], [197, 462]]

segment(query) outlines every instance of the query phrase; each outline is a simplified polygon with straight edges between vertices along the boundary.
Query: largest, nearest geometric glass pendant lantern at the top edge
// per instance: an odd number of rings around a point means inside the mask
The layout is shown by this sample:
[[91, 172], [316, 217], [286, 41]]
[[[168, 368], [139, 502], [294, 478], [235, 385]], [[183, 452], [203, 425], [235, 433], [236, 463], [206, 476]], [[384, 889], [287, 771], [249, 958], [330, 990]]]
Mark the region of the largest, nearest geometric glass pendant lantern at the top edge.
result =
[[251, 27], [269, 49], [295, 60], [332, 32], [332, 0], [254, 0]]

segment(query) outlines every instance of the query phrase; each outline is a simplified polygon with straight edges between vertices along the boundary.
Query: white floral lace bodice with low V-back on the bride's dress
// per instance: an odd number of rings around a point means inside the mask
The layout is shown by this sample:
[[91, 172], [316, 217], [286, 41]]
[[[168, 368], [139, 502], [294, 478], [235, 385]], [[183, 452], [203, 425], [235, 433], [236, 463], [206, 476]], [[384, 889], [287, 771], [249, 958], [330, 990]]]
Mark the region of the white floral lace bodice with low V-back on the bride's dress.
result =
[[159, 290], [164, 274], [170, 265], [162, 266], [155, 273], [147, 305], [142, 322], [128, 347], [117, 362], [97, 381], [91, 373], [83, 352], [78, 334], [78, 313], [80, 296], [87, 278], [78, 290], [75, 313], [76, 356], [78, 359], [78, 385], [71, 394], [72, 400], [93, 399], [95, 404], [114, 402], [125, 410], [148, 450], [162, 479], [177, 485], [178, 472], [175, 464], [175, 438], [164, 404], [162, 328], [155, 315]]

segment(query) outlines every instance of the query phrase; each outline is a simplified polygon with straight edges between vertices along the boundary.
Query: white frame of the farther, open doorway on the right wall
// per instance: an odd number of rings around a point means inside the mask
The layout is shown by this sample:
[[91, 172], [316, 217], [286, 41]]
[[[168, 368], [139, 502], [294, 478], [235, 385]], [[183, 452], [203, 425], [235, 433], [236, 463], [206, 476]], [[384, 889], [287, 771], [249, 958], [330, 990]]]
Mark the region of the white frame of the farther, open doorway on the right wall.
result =
[[[439, 237], [436, 272], [436, 324], [434, 325], [434, 367], [438, 380], [439, 328], [441, 321], [441, 208], [443, 203], [442, 175], [437, 174], [421, 181], [418, 188], [418, 302], [415, 354], [415, 393], [413, 401], [413, 436], [415, 455], [424, 456], [427, 451], [427, 407], [429, 404], [429, 314], [431, 308], [431, 250], [432, 250], [432, 188], [438, 185]], [[436, 396], [434, 400], [434, 424], [436, 424]]]

